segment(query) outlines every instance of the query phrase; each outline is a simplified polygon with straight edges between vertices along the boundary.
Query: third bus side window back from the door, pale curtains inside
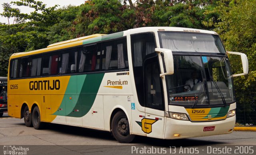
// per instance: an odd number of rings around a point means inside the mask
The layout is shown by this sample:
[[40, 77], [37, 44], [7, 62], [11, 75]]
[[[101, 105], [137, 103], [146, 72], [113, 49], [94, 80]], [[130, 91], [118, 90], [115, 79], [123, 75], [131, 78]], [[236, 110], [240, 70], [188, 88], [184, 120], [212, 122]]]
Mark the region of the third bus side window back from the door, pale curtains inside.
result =
[[68, 74], [76, 72], [77, 48], [64, 50], [60, 52], [59, 74]]

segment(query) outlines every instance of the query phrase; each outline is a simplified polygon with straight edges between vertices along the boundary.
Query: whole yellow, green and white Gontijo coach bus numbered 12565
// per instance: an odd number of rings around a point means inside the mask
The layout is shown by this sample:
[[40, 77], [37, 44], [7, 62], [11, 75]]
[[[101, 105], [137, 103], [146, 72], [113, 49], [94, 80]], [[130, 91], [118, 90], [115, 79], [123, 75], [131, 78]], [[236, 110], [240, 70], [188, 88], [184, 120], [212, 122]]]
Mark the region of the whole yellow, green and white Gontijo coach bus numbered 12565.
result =
[[[232, 75], [228, 54], [241, 56]], [[232, 77], [248, 74], [245, 54], [226, 52], [216, 32], [145, 27], [94, 34], [13, 54], [8, 114], [26, 126], [44, 122], [180, 139], [231, 133]]]

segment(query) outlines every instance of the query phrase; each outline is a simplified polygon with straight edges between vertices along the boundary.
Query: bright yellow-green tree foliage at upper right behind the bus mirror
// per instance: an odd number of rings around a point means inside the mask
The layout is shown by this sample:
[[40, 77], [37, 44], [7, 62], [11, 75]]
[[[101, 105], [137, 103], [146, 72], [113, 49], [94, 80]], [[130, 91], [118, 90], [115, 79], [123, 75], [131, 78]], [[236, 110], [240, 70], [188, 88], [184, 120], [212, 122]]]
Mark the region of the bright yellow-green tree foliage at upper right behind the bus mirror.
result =
[[[220, 0], [213, 10], [204, 14], [217, 14], [218, 19], [210, 18], [203, 22], [205, 26], [214, 27], [220, 34], [227, 51], [242, 52], [247, 55], [249, 74], [234, 78], [239, 89], [256, 84], [256, 1], [255, 0]], [[241, 60], [230, 56], [233, 74], [242, 70]], [[240, 64], [240, 65], [238, 65]], [[242, 79], [242, 80], [241, 80]], [[244, 87], [245, 86], [245, 87]]]

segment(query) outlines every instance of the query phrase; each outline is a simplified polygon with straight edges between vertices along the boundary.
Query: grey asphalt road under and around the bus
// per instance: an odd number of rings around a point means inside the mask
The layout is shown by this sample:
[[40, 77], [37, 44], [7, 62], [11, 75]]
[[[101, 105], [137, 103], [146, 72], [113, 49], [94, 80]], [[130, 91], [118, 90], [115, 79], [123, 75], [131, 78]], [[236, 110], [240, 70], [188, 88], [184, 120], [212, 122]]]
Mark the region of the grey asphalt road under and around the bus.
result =
[[[238, 154], [250, 154], [252, 150], [252, 154], [255, 154], [256, 132], [234, 131], [228, 135], [176, 140], [137, 137], [134, 143], [122, 144], [106, 131], [58, 124], [47, 124], [45, 129], [36, 130], [33, 127], [26, 127], [23, 119], [8, 117], [7, 113], [4, 113], [0, 118], [0, 145], [28, 147], [28, 155], [216, 154], [215, 147], [216, 150], [221, 148], [217, 151], [218, 154], [227, 154], [227, 147], [231, 149], [231, 154], [235, 154], [235, 149]], [[4, 147], [0, 147], [0, 154], [3, 149]]]

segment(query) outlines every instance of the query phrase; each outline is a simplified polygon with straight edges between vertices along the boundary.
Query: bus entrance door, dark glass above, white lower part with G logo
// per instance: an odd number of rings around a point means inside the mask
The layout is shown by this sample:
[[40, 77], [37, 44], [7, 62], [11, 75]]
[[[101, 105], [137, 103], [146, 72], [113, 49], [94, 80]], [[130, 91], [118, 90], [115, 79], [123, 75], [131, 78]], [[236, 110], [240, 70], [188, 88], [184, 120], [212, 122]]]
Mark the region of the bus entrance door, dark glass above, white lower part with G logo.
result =
[[146, 119], [143, 122], [148, 137], [163, 137], [164, 97], [158, 57], [144, 62], [144, 93]]

